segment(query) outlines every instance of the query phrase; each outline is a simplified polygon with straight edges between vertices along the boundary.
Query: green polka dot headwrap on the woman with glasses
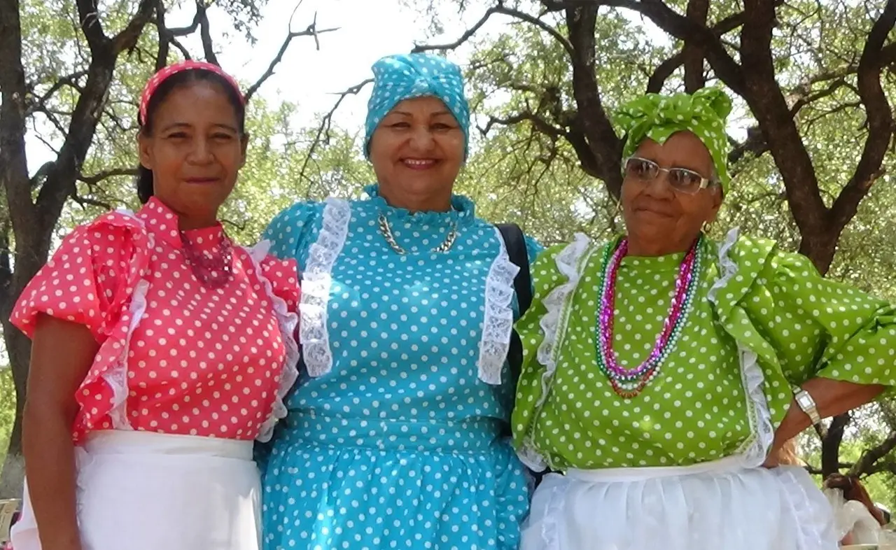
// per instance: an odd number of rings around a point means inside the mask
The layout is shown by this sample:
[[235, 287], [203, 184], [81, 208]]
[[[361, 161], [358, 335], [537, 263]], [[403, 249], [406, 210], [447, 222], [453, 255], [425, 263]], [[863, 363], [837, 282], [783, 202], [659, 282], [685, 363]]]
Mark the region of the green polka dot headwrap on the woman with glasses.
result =
[[665, 143], [673, 133], [693, 132], [710, 150], [722, 190], [728, 193], [728, 135], [725, 119], [731, 99], [718, 88], [703, 88], [693, 95], [650, 93], [633, 99], [619, 109], [614, 122], [627, 135], [623, 156], [629, 157], [650, 138]]

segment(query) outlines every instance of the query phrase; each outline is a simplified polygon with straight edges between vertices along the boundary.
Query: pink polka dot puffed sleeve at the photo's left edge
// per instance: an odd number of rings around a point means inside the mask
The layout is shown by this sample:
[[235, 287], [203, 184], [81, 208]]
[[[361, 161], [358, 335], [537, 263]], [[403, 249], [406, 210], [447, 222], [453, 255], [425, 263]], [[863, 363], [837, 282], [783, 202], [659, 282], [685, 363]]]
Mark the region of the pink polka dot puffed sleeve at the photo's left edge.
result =
[[11, 316], [29, 338], [39, 314], [82, 324], [102, 342], [114, 328], [125, 291], [131, 244], [125, 229], [94, 222], [75, 228], [30, 280]]

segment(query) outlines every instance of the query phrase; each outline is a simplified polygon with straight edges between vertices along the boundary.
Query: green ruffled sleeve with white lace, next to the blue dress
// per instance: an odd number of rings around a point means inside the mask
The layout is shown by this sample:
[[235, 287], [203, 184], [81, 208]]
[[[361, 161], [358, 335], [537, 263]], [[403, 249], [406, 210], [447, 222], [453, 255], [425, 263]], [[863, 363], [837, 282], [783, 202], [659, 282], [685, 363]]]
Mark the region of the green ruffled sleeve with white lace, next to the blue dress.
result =
[[523, 359], [513, 408], [513, 443], [526, 466], [537, 471], [546, 464], [530, 441], [530, 428], [556, 371], [554, 349], [563, 337], [563, 312], [589, 249], [588, 237], [577, 235], [572, 244], [555, 245], [538, 255], [532, 266], [532, 305], [516, 324]]

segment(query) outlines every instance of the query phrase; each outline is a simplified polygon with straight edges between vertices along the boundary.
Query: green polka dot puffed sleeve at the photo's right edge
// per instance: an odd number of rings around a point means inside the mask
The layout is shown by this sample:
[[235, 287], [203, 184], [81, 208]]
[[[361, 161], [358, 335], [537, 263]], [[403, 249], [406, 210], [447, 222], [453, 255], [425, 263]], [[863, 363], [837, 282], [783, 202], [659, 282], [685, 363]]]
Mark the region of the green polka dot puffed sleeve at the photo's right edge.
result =
[[759, 356], [775, 425], [792, 387], [821, 376], [896, 385], [896, 309], [823, 278], [801, 254], [740, 237], [737, 271], [719, 290], [720, 321]]

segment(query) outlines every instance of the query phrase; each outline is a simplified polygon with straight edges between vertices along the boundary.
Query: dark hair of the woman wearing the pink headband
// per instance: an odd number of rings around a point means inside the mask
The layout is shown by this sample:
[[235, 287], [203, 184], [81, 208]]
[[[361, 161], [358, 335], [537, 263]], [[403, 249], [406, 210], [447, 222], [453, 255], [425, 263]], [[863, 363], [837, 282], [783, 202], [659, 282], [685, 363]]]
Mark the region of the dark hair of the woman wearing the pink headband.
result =
[[[152, 135], [152, 119], [159, 110], [159, 106], [171, 95], [171, 92], [179, 88], [184, 88], [195, 82], [212, 82], [217, 84], [219, 88], [227, 96], [230, 105], [233, 107], [234, 113], [237, 115], [237, 126], [240, 134], [246, 133], [246, 106], [240, 96], [239, 90], [228, 82], [218, 73], [212, 73], [204, 69], [190, 69], [174, 73], [159, 84], [159, 87], [152, 93], [149, 104], [146, 106], [146, 120], [138, 120], [140, 123], [140, 132], [143, 135]], [[137, 197], [140, 198], [142, 204], [149, 202], [153, 193], [152, 186], [152, 170], [144, 167], [142, 164], [137, 165]]]

